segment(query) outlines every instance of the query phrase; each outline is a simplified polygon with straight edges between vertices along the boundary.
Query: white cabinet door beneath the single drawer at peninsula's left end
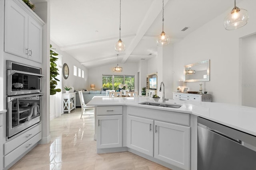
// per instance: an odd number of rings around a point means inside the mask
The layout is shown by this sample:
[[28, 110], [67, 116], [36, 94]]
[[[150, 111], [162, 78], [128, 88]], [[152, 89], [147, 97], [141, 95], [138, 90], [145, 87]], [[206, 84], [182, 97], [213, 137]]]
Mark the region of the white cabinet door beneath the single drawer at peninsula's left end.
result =
[[123, 115], [97, 116], [97, 149], [122, 147]]

